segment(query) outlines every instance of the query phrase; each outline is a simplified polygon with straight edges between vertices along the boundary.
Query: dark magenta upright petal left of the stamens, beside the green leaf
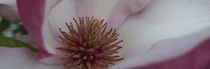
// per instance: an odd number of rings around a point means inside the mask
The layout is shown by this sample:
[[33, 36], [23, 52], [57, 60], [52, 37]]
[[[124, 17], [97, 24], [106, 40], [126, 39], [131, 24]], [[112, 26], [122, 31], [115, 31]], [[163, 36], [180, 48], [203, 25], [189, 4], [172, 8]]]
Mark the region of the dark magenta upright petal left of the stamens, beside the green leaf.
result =
[[17, 0], [21, 20], [40, 48], [40, 59], [50, 56], [48, 51], [45, 50], [41, 29], [45, 18], [45, 12], [50, 10], [49, 8], [56, 5], [57, 2], [58, 0], [51, 0], [50, 3], [52, 4], [49, 4], [48, 1], [46, 3], [45, 0]]

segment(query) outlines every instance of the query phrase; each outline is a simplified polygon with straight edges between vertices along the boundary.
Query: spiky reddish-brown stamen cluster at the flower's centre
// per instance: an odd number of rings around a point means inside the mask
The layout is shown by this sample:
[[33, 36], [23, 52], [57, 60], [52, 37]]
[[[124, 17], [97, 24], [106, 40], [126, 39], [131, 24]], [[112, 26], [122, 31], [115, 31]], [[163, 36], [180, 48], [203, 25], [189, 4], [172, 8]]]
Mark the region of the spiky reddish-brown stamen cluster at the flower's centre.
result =
[[69, 31], [59, 29], [64, 46], [57, 49], [65, 54], [67, 69], [107, 69], [123, 60], [117, 55], [123, 40], [118, 39], [116, 29], [108, 29], [104, 20], [94, 17], [73, 20], [66, 23]]

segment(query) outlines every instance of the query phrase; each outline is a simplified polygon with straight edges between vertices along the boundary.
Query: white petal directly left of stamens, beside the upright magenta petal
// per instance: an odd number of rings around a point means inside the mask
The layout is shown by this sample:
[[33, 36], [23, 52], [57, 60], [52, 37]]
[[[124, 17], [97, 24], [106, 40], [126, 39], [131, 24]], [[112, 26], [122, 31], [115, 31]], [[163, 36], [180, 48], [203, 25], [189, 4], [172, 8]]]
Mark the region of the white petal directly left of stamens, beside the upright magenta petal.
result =
[[46, 13], [43, 25], [43, 39], [46, 50], [51, 54], [56, 54], [56, 47], [61, 46], [57, 41], [59, 28], [67, 31], [66, 22], [72, 21], [75, 15], [74, 0], [62, 0], [55, 7]]

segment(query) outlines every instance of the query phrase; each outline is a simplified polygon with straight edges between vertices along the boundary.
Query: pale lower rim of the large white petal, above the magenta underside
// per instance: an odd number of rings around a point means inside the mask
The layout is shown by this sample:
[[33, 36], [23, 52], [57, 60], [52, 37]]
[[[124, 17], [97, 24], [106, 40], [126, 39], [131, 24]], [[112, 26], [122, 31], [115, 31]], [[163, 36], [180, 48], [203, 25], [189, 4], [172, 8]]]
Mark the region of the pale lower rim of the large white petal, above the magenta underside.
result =
[[183, 37], [158, 41], [151, 50], [128, 58], [113, 69], [143, 67], [185, 55], [210, 37], [209, 30], [210, 28]]

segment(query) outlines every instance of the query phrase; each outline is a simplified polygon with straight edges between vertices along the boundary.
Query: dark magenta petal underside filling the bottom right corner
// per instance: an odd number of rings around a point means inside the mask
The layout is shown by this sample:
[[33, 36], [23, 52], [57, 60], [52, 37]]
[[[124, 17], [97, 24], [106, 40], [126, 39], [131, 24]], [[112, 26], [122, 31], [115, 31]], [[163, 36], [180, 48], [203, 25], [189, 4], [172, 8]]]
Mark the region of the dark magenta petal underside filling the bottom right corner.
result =
[[184, 56], [137, 69], [209, 69], [209, 45], [210, 40], [208, 38]]

